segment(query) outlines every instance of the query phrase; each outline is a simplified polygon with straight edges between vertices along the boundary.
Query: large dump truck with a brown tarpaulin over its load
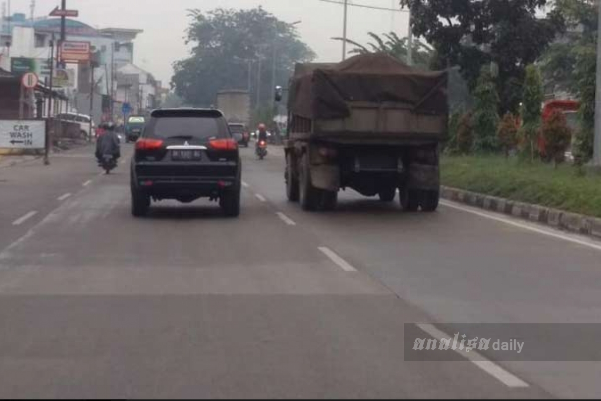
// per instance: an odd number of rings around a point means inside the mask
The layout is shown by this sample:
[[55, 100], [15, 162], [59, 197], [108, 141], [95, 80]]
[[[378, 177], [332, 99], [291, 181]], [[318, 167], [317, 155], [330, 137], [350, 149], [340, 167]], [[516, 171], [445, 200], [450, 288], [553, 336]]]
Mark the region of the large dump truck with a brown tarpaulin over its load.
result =
[[447, 72], [413, 69], [385, 54], [297, 64], [284, 142], [288, 200], [331, 210], [341, 189], [383, 202], [398, 189], [404, 210], [436, 210], [447, 81]]

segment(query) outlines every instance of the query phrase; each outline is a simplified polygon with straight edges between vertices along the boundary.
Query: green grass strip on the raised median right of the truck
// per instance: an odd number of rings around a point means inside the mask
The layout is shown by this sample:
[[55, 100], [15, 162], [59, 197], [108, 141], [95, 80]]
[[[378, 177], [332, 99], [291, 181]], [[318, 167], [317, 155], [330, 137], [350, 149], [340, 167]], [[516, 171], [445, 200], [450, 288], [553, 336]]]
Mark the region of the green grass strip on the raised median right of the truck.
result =
[[601, 174], [503, 156], [443, 156], [442, 185], [601, 217]]

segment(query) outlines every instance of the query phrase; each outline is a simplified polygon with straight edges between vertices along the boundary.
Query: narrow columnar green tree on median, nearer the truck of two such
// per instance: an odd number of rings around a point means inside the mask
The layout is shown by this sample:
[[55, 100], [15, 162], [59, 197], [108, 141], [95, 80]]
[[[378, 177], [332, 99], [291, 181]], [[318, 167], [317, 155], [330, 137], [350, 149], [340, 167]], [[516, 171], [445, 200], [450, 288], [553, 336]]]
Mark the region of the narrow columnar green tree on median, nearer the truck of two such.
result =
[[499, 96], [496, 93], [490, 69], [482, 67], [478, 86], [474, 91], [475, 107], [472, 124], [474, 126], [473, 148], [476, 152], [495, 152], [498, 149], [496, 126]]

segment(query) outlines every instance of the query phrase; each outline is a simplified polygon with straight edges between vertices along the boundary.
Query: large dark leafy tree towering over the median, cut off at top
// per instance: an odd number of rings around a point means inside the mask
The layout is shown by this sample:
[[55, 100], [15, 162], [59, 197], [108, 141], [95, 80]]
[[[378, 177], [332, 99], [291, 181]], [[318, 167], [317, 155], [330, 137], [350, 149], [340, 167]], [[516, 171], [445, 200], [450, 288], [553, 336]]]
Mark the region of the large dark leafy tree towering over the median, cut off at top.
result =
[[401, 0], [412, 11], [412, 28], [448, 67], [460, 66], [469, 88], [480, 68], [498, 66], [499, 112], [517, 112], [525, 67], [563, 30], [561, 14], [537, 16], [548, 0]]

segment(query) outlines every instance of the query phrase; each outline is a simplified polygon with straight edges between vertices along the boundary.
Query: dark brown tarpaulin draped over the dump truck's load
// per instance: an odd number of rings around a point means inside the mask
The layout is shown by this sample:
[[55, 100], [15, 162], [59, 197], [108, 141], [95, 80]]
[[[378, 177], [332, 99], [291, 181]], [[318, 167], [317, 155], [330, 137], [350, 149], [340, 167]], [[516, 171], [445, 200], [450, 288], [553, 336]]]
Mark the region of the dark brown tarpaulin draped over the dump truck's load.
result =
[[421, 114], [447, 113], [447, 72], [426, 72], [386, 54], [339, 64], [297, 64], [288, 108], [315, 120], [350, 116], [347, 101], [400, 102]]

